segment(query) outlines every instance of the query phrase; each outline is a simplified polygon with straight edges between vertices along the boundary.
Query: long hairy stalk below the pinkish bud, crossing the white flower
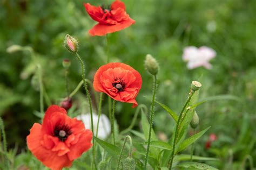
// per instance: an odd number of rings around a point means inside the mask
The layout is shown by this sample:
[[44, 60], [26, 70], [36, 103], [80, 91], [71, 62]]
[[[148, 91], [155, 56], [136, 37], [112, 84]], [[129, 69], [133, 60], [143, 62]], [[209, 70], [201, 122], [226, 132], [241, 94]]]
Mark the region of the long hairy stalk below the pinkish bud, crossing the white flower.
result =
[[[88, 87], [87, 87], [87, 83], [85, 81], [85, 75], [84, 75], [84, 72], [85, 72], [85, 68], [84, 68], [84, 62], [83, 60], [80, 58], [79, 54], [76, 53], [76, 57], [77, 59], [79, 60], [80, 62], [80, 65], [82, 67], [82, 78], [83, 78], [83, 83], [84, 83], [84, 89], [85, 89], [85, 93], [86, 93], [86, 96], [87, 96], [87, 99], [88, 99], [88, 103], [89, 103], [89, 107], [90, 107], [90, 114], [91, 114], [91, 130], [92, 130], [92, 135], [94, 136], [94, 131], [93, 131], [93, 118], [92, 118], [92, 101], [91, 101], [91, 96], [90, 96], [90, 93], [89, 93], [89, 90], [88, 90]], [[95, 162], [95, 140], [92, 139], [92, 143], [93, 143], [93, 146], [92, 146], [92, 153], [93, 153], [93, 162], [95, 164], [95, 168], [97, 169], [97, 165], [96, 165], [96, 162]]]

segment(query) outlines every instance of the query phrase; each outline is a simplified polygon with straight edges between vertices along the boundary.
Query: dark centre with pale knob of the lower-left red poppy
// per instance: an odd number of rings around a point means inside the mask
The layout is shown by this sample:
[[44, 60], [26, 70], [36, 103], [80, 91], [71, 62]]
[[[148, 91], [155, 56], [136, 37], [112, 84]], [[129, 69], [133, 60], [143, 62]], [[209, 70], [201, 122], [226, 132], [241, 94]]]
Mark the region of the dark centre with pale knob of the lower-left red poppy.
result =
[[60, 141], [65, 141], [72, 133], [68, 125], [57, 125], [53, 130], [54, 136], [58, 137]]

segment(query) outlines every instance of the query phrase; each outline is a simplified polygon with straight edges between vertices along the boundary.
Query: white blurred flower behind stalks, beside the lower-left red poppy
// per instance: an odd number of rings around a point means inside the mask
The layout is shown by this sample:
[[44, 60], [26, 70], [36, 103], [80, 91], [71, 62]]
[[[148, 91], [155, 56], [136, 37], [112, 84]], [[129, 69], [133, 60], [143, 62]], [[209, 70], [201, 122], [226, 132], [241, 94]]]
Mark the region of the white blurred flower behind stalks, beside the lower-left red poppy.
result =
[[[77, 116], [78, 120], [82, 120], [86, 129], [91, 129], [91, 115], [90, 114], [82, 114]], [[97, 131], [97, 122], [98, 122], [98, 115], [93, 113], [93, 131], [96, 136]], [[99, 129], [98, 129], [98, 138], [106, 139], [111, 133], [111, 124], [109, 118], [106, 115], [102, 114], [99, 118]]]

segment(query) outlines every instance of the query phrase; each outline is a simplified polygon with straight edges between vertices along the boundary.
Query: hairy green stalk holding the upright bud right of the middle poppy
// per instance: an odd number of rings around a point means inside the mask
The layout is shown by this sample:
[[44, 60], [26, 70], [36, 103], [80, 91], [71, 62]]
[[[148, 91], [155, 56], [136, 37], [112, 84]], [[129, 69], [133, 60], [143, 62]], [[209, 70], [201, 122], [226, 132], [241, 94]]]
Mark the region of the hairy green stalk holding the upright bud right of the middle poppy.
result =
[[156, 96], [156, 90], [157, 90], [157, 76], [154, 75], [153, 76], [153, 95], [152, 95], [151, 110], [150, 110], [149, 140], [147, 141], [147, 152], [146, 152], [146, 157], [145, 157], [144, 169], [146, 169], [146, 167], [147, 167], [147, 159], [149, 157], [151, 131], [152, 131], [153, 118], [154, 118], [154, 98]]

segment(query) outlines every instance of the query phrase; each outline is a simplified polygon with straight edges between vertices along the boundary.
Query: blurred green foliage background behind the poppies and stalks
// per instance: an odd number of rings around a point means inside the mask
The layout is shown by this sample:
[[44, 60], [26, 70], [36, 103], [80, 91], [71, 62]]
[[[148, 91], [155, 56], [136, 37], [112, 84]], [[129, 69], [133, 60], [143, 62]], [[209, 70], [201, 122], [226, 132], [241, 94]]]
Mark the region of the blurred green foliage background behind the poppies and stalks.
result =
[[[81, 80], [76, 58], [63, 47], [66, 34], [79, 40], [79, 54], [86, 65], [86, 77], [106, 62], [106, 37], [87, 33], [96, 24], [83, 3], [110, 4], [111, 1], [29, 1], [0, 2], [0, 116], [3, 117], [9, 148], [26, 148], [26, 136], [39, 121], [39, 92], [31, 86], [35, 61], [28, 50], [6, 52], [11, 45], [30, 46], [42, 65], [43, 83], [50, 101], [64, 98], [63, 59], [71, 60], [70, 88]], [[250, 155], [256, 164], [256, 1], [254, 0], [124, 0], [127, 13], [136, 20], [129, 28], [109, 35], [111, 61], [124, 62], [143, 77], [137, 101], [150, 105], [152, 77], [144, 69], [145, 55], [159, 62], [157, 100], [179, 112], [192, 80], [203, 84], [200, 98], [216, 95], [238, 96], [239, 101], [209, 102], [198, 109], [199, 129], [212, 128], [200, 139], [196, 153], [221, 159], [221, 169], [235, 169]], [[213, 68], [188, 70], [182, 60], [186, 46], [208, 46], [217, 52]], [[92, 88], [90, 90], [93, 90]], [[95, 101], [95, 96], [92, 96]], [[84, 90], [73, 97], [75, 107], [86, 101]], [[104, 98], [104, 113], [107, 100]], [[95, 105], [96, 102], [94, 102]], [[45, 104], [45, 109], [48, 107]], [[95, 105], [96, 107], [96, 105]], [[118, 103], [119, 129], [130, 125], [134, 114], [131, 104]], [[173, 121], [158, 105], [154, 129], [171, 136]], [[139, 124], [136, 125], [139, 129]], [[218, 140], [211, 150], [204, 144], [209, 133]]]

